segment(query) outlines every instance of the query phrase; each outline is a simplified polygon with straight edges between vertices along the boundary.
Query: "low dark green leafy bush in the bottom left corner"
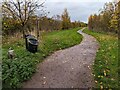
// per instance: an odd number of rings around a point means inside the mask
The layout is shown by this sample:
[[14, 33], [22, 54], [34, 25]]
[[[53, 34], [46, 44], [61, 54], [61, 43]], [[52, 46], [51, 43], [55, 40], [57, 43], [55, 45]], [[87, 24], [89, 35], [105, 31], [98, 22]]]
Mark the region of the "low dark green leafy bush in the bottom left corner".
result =
[[30, 58], [16, 58], [3, 60], [2, 82], [3, 88], [20, 87], [20, 82], [27, 80], [35, 72], [35, 63]]

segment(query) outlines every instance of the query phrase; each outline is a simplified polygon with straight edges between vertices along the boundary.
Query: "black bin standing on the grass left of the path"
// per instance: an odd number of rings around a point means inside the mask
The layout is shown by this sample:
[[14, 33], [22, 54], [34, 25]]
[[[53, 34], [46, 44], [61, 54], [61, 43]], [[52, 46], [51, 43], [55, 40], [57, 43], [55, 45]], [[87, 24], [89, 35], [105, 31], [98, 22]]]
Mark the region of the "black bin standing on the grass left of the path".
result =
[[26, 35], [26, 49], [32, 53], [37, 52], [38, 40], [33, 35]]

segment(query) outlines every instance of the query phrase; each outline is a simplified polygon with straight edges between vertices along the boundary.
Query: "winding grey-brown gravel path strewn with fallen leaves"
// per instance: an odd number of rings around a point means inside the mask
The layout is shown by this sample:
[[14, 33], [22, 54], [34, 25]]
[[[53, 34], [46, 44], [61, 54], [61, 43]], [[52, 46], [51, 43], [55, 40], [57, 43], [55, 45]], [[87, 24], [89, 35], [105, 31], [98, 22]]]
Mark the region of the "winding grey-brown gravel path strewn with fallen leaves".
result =
[[78, 33], [83, 35], [82, 42], [46, 58], [38, 65], [32, 79], [23, 83], [23, 88], [94, 87], [91, 68], [99, 44], [94, 37], [81, 30]]

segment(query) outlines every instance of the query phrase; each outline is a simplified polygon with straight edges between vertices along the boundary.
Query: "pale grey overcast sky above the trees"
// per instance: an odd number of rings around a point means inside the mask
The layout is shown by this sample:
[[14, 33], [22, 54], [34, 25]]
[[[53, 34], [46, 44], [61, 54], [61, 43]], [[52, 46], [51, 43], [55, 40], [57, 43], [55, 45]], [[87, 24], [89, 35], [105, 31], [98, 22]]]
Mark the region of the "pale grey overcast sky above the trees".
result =
[[49, 17], [61, 15], [64, 8], [67, 8], [71, 21], [87, 22], [91, 14], [99, 13], [104, 3], [110, 1], [113, 0], [46, 0], [45, 7], [46, 11], [50, 12]]

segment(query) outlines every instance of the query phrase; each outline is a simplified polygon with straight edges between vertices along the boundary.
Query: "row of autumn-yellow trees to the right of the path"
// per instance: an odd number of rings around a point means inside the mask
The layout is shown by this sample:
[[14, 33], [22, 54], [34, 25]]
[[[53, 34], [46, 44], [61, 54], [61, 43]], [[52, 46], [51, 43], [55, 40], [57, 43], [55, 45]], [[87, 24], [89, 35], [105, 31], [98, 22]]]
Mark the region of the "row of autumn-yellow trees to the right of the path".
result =
[[120, 1], [105, 3], [100, 14], [89, 17], [88, 27], [98, 32], [118, 33], [120, 30]]

